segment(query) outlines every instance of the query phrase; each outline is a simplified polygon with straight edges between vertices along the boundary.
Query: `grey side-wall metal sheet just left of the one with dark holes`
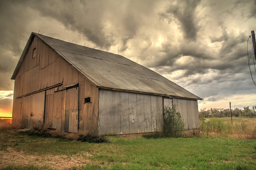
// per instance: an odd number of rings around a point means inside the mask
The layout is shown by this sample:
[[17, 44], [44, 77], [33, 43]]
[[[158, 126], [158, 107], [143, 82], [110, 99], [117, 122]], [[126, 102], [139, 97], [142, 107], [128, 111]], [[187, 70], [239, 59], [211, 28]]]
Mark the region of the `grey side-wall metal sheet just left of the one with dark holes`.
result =
[[120, 134], [128, 134], [129, 133], [129, 93], [121, 92], [120, 93], [121, 100], [121, 132]]

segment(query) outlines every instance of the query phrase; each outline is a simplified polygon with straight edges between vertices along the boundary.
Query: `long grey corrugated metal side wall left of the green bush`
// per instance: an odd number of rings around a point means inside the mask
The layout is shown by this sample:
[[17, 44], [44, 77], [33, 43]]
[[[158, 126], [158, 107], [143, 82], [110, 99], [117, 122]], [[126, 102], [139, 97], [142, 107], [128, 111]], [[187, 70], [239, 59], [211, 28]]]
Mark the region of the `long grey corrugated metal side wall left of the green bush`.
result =
[[160, 132], [162, 96], [100, 90], [99, 135]]

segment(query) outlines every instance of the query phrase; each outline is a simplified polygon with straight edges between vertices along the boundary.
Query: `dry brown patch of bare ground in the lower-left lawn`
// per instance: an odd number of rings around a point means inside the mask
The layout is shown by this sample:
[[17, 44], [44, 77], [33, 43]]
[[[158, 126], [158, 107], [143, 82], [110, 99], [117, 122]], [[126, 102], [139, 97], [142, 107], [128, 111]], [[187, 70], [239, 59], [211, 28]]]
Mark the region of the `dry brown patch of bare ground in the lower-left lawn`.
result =
[[72, 167], [79, 167], [79, 165], [92, 163], [90, 159], [85, 159], [84, 156], [90, 157], [92, 155], [88, 152], [76, 155], [27, 155], [22, 151], [17, 152], [14, 148], [9, 147], [5, 151], [0, 151], [0, 164], [2, 167], [15, 164], [49, 167], [51, 169], [72, 169]]

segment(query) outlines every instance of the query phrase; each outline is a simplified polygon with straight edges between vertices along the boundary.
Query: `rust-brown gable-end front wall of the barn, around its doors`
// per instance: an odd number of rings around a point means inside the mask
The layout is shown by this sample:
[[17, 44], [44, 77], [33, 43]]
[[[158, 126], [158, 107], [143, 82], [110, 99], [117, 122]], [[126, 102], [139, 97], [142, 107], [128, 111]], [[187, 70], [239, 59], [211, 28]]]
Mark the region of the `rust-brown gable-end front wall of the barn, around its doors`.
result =
[[[36, 48], [36, 57], [32, 58], [34, 48]], [[16, 97], [44, 90], [45, 126], [63, 130], [65, 102], [63, 87], [75, 83], [79, 83], [79, 130], [98, 135], [98, 88], [35, 36], [15, 77], [13, 121], [25, 119], [24, 122], [28, 122], [27, 118], [24, 116], [22, 118], [22, 114], [25, 114], [22, 112], [26, 112], [22, 107], [32, 107], [26, 104], [24, 100], [26, 97]], [[84, 104], [84, 98], [87, 96], [91, 97], [90, 104]]]

